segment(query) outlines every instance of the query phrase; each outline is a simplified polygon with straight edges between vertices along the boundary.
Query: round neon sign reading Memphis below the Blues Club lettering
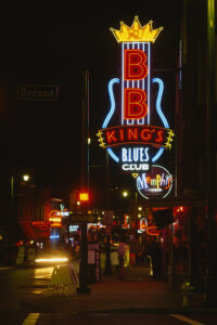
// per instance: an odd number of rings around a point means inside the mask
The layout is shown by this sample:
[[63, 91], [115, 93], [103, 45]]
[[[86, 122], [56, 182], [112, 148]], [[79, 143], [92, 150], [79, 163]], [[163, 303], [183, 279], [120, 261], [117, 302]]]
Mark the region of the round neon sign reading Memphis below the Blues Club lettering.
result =
[[164, 198], [171, 187], [171, 174], [158, 165], [153, 165], [150, 171], [140, 173], [137, 178], [137, 190], [146, 199]]

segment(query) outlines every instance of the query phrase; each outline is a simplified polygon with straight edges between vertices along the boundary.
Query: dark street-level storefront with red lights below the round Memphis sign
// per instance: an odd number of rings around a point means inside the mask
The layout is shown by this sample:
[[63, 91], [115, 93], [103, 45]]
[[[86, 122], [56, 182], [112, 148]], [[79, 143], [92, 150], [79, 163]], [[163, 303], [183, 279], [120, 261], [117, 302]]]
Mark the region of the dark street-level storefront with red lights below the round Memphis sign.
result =
[[[207, 262], [205, 200], [174, 199], [165, 200], [164, 205], [159, 200], [148, 200], [145, 206], [153, 217], [157, 216], [153, 218], [152, 226], [156, 230], [155, 236], [162, 249], [163, 278], [168, 280], [171, 289], [180, 288], [186, 280], [190, 280], [195, 288], [204, 288]], [[170, 217], [165, 218], [163, 212], [166, 210]], [[171, 217], [173, 222], [171, 219], [168, 221]], [[154, 234], [150, 233], [150, 236], [154, 237]]]

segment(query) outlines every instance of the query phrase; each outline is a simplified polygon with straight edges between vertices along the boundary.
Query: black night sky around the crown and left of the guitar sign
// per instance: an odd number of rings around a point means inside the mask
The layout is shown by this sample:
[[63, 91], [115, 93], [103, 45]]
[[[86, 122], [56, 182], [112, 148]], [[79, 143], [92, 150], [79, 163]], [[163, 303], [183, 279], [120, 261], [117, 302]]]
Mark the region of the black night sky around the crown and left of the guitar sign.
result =
[[[90, 72], [91, 176], [105, 181], [105, 152], [95, 133], [110, 108], [107, 82], [119, 77], [120, 46], [110, 31], [119, 22], [131, 26], [153, 21], [164, 27], [153, 44], [153, 75], [166, 79], [165, 103], [170, 122], [175, 112], [175, 54], [181, 1], [90, 1], [59, 6], [21, 1], [17, 26], [4, 37], [0, 62], [1, 179], [31, 173], [34, 182], [56, 191], [77, 186], [80, 179], [81, 81]], [[157, 69], [163, 69], [163, 72]], [[17, 101], [17, 84], [59, 87], [54, 102]], [[112, 164], [112, 162], [111, 162]], [[118, 167], [114, 174], [118, 174]], [[3, 190], [1, 190], [3, 191]]]

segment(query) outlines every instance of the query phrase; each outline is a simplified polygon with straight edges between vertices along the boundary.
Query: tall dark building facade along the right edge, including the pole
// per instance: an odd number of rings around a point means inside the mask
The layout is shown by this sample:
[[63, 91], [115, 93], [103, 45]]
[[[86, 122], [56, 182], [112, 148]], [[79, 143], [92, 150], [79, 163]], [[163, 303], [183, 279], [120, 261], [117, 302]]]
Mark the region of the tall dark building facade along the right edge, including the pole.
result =
[[[174, 230], [173, 234], [170, 278], [176, 285], [177, 278], [186, 277], [195, 287], [207, 290], [210, 287], [208, 277], [212, 277], [213, 287], [216, 287], [217, 278], [217, 265], [213, 262], [217, 258], [217, 3], [215, 0], [186, 0], [182, 3], [176, 67], [174, 206], [178, 206], [178, 200], [184, 212], [178, 217], [182, 224], [179, 232]], [[186, 243], [181, 244], [183, 238]], [[181, 272], [180, 269], [177, 272], [177, 259], [183, 260]]]

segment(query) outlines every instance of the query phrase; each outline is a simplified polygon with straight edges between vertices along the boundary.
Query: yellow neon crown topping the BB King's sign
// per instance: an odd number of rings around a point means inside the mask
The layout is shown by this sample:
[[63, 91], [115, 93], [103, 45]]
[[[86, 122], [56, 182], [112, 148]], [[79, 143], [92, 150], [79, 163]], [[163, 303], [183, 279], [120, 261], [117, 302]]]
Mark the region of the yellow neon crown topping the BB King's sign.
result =
[[141, 26], [138, 16], [135, 16], [135, 21], [131, 27], [125, 25], [124, 22], [120, 22], [120, 30], [110, 28], [114, 34], [118, 43], [120, 42], [155, 42], [157, 36], [164, 29], [159, 27], [157, 29], [152, 28], [152, 21], [146, 25]]

